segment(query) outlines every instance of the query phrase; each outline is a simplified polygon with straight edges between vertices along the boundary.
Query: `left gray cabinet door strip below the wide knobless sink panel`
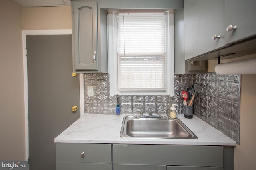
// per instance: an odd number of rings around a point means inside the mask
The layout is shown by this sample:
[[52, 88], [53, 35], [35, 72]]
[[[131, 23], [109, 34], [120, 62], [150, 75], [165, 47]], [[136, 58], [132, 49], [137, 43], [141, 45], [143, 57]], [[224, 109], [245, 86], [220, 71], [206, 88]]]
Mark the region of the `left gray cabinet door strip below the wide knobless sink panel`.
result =
[[113, 170], [166, 170], [166, 165], [114, 164]]

